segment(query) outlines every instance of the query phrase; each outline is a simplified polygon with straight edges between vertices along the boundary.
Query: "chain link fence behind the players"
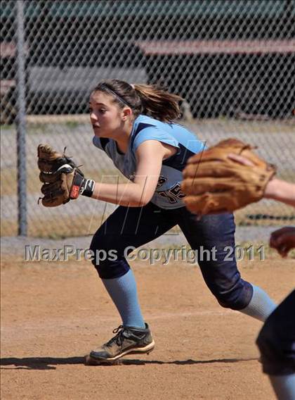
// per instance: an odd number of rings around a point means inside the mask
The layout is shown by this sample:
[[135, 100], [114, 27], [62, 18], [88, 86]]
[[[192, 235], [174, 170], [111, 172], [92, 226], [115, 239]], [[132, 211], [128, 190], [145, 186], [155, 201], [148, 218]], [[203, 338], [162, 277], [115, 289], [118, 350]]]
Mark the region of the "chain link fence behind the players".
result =
[[[1, 234], [18, 232], [19, 1], [1, 1]], [[37, 204], [37, 145], [83, 164], [87, 177], [112, 182], [114, 165], [91, 144], [88, 101], [100, 80], [159, 82], [181, 94], [183, 123], [214, 144], [256, 144], [278, 176], [295, 182], [295, 1], [21, 1], [25, 44], [27, 233], [93, 233], [114, 210], [79, 198]], [[25, 154], [24, 153], [24, 154]], [[124, 177], [120, 175], [124, 182]], [[263, 200], [237, 223], [294, 220], [289, 206]]]

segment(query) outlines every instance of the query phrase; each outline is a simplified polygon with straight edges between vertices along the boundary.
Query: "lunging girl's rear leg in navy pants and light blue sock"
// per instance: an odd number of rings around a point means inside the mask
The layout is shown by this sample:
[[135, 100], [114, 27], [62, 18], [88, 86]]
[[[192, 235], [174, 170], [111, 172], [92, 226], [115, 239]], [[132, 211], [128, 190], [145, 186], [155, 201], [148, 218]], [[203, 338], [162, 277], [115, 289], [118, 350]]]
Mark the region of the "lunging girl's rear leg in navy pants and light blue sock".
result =
[[[230, 213], [204, 215], [200, 220], [185, 208], [178, 224], [192, 249], [208, 249], [211, 256], [199, 258], [202, 275], [219, 304], [264, 321], [275, 303], [263, 289], [242, 280], [235, 261], [235, 223]], [[232, 251], [230, 250], [232, 249]]]

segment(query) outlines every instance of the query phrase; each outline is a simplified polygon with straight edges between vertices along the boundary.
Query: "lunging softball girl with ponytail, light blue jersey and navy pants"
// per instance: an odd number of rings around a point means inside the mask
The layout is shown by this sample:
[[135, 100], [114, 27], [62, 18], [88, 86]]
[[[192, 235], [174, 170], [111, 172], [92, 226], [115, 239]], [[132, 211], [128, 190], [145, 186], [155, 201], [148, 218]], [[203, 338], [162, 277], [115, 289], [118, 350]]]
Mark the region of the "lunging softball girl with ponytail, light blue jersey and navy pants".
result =
[[[192, 132], [173, 123], [179, 117], [179, 99], [156, 86], [120, 80], [101, 82], [90, 97], [93, 144], [129, 179], [119, 185], [89, 180], [82, 193], [119, 204], [91, 242], [96, 254], [93, 264], [122, 318], [114, 337], [91, 351], [91, 360], [98, 363], [154, 348], [125, 249], [150, 242], [175, 225], [181, 227], [192, 249], [216, 249], [214, 257], [198, 263], [221, 306], [261, 321], [275, 308], [262, 289], [242, 280], [234, 256], [225, 258], [225, 246], [235, 247], [233, 215], [204, 215], [197, 220], [183, 204], [182, 170], [204, 146]], [[117, 257], [100, 259], [97, 254], [102, 250], [105, 254], [115, 250]]]

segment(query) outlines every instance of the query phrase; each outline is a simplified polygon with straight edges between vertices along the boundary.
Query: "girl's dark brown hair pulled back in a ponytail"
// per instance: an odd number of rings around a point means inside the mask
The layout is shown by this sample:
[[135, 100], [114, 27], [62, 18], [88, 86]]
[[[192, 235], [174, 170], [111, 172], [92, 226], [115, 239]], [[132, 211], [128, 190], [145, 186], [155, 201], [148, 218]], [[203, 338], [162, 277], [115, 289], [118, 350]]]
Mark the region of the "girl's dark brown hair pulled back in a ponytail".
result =
[[158, 85], [130, 85], [122, 80], [112, 79], [100, 82], [93, 92], [112, 95], [121, 107], [129, 106], [133, 115], [149, 115], [165, 123], [180, 118], [179, 102], [181, 96], [167, 92]]

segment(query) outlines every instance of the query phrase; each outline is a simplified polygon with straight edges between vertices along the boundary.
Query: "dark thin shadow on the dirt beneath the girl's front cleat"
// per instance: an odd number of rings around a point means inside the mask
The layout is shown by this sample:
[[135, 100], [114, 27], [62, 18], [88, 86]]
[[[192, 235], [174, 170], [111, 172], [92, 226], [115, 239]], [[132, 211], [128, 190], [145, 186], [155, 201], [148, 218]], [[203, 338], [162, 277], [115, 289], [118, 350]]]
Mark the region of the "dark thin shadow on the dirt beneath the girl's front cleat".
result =
[[[115, 364], [95, 364], [95, 366], [111, 366], [111, 365], [149, 365], [149, 364], [175, 364], [175, 365], [193, 365], [193, 364], [209, 364], [209, 363], [240, 363], [241, 361], [255, 361], [258, 358], [218, 358], [213, 360], [176, 360], [176, 361], [157, 361], [157, 360], [138, 360], [138, 359], [124, 359], [117, 361]], [[28, 358], [1, 358], [0, 359], [2, 370], [55, 370], [53, 365], [70, 365], [70, 364], [84, 364], [85, 357], [67, 357], [67, 358], [53, 358], [53, 357], [28, 357]], [[9, 368], [8, 365], [14, 365]], [[87, 365], [88, 366], [88, 365]]]

